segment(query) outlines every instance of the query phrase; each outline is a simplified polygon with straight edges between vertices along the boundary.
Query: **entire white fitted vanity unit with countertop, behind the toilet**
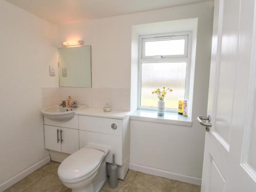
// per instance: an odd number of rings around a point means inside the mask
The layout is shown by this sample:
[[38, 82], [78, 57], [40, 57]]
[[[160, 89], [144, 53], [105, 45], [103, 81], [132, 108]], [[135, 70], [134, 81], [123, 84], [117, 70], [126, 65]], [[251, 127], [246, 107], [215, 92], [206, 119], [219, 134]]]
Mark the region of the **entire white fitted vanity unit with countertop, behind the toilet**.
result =
[[130, 159], [128, 114], [129, 112], [103, 112], [101, 109], [86, 108], [77, 111], [74, 118], [66, 122], [45, 117], [45, 148], [50, 150], [51, 158], [61, 162], [63, 153], [72, 154], [87, 144], [109, 147], [110, 152], [106, 156], [107, 170], [115, 154], [118, 178], [124, 179]]

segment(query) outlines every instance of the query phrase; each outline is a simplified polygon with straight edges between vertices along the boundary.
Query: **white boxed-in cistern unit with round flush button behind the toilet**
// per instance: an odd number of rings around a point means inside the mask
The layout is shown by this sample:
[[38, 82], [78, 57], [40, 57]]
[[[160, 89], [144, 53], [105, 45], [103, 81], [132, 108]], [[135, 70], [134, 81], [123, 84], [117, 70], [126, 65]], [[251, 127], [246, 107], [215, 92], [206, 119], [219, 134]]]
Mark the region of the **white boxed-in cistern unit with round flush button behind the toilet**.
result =
[[79, 115], [79, 147], [89, 143], [110, 148], [106, 162], [122, 166], [130, 155], [129, 117], [121, 119]]

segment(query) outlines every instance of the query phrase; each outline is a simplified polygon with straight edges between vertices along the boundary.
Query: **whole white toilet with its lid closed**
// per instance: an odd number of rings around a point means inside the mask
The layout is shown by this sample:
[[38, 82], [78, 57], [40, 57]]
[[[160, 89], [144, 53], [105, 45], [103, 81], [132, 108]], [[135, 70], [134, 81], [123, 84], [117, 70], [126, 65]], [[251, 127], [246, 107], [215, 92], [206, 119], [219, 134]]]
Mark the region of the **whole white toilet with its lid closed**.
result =
[[67, 157], [58, 168], [63, 185], [72, 192], [98, 192], [106, 182], [109, 148], [88, 144]]

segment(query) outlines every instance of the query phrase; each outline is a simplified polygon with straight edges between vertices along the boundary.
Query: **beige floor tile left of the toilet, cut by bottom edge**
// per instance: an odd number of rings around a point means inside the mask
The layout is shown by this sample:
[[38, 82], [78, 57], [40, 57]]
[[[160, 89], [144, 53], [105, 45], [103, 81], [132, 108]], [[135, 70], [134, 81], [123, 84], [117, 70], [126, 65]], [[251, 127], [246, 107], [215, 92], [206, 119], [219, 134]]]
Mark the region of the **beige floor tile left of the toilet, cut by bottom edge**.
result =
[[66, 192], [67, 190], [68, 188], [61, 183], [57, 175], [48, 173], [28, 188], [26, 192]]

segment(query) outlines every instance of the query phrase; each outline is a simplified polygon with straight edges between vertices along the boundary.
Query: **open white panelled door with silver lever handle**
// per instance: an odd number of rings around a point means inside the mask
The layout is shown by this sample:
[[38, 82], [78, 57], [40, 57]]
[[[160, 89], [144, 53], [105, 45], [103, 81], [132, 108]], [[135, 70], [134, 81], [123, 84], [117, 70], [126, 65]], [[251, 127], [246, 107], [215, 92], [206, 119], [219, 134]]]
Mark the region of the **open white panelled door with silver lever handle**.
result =
[[256, 191], [255, 2], [215, 1], [202, 192]]

